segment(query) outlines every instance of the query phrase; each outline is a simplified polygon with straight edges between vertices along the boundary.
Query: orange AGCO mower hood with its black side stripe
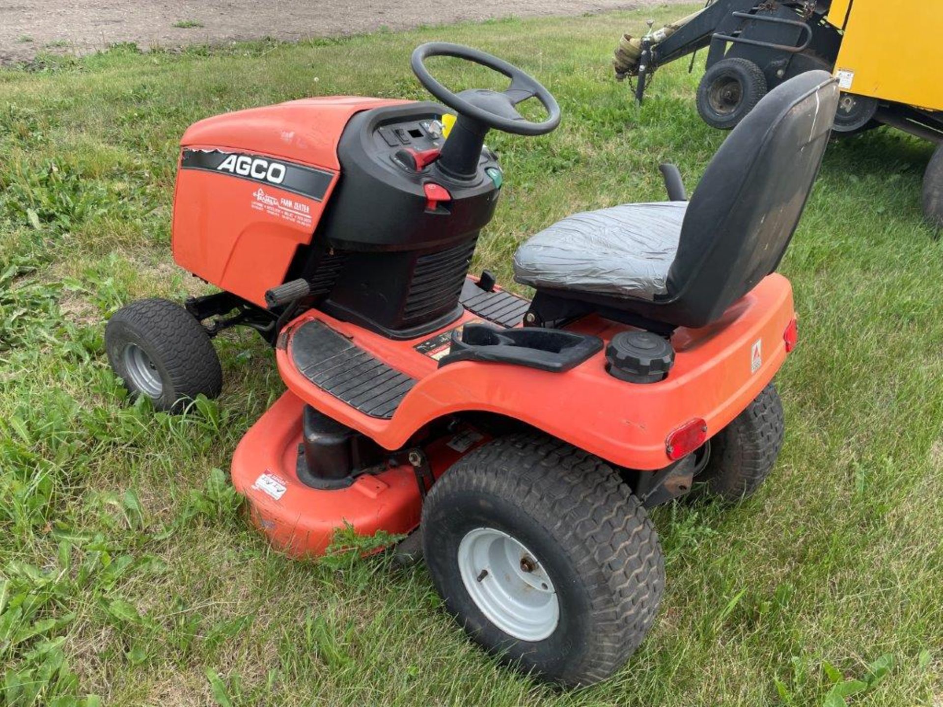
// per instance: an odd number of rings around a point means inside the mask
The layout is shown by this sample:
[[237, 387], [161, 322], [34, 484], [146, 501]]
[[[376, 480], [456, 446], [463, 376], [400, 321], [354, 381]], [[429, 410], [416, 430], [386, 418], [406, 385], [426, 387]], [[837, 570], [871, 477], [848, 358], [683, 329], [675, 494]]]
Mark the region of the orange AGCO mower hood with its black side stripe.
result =
[[340, 172], [338, 144], [360, 111], [408, 101], [306, 98], [207, 118], [180, 141], [174, 260], [245, 300], [285, 280], [311, 242]]

